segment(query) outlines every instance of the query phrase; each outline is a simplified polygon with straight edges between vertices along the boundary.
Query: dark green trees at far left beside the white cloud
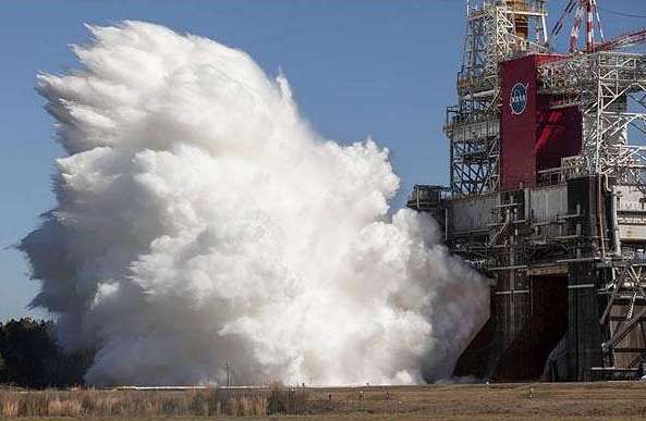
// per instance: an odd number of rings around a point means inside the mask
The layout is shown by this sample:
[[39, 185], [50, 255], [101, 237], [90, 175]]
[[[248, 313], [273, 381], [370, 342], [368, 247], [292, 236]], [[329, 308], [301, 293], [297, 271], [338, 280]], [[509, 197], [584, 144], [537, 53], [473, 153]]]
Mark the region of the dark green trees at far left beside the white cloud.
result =
[[53, 322], [24, 318], [0, 323], [0, 384], [19, 387], [83, 385], [93, 352], [66, 355]]

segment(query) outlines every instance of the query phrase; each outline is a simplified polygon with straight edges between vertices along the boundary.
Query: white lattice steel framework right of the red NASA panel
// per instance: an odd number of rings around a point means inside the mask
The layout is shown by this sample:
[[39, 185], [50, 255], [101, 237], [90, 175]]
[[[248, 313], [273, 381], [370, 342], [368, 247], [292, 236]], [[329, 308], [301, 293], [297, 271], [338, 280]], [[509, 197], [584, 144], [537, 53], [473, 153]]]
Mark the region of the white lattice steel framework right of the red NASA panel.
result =
[[646, 55], [602, 51], [543, 64], [539, 94], [551, 96], [552, 108], [578, 107], [583, 114], [582, 151], [570, 168], [576, 161], [577, 174], [644, 185]]

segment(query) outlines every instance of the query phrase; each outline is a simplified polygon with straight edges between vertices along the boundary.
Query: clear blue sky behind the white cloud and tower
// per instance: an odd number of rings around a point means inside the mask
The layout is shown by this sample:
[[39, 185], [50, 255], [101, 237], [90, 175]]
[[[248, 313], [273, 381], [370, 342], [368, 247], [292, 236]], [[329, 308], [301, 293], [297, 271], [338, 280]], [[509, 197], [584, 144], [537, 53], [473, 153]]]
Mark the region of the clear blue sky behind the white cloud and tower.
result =
[[[599, 0], [646, 15], [644, 0]], [[552, 0], [552, 22], [564, 0]], [[402, 190], [446, 184], [441, 127], [452, 104], [464, 35], [463, 0], [3, 0], [0, 3], [0, 321], [25, 314], [38, 288], [11, 248], [53, 206], [52, 161], [62, 151], [34, 91], [36, 73], [75, 66], [70, 44], [88, 41], [83, 23], [143, 20], [248, 52], [288, 76], [302, 114], [327, 138], [369, 134], [391, 150]], [[606, 32], [646, 18], [601, 11]]]

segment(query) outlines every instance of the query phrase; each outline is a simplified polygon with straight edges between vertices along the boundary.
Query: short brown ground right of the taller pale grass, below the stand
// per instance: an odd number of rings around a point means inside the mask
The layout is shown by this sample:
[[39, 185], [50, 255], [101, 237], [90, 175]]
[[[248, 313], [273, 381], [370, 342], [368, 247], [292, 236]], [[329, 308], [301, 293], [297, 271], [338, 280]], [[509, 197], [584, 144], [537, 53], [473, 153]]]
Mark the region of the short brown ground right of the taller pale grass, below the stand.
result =
[[[646, 382], [306, 388], [306, 404], [297, 416], [272, 416], [259, 419], [329, 421], [426, 420], [429, 418], [440, 420], [636, 420], [646, 418]], [[153, 419], [155, 418], [148, 420]], [[38, 421], [46, 419], [38, 419]], [[194, 418], [182, 418], [182, 420], [194, 420]]]

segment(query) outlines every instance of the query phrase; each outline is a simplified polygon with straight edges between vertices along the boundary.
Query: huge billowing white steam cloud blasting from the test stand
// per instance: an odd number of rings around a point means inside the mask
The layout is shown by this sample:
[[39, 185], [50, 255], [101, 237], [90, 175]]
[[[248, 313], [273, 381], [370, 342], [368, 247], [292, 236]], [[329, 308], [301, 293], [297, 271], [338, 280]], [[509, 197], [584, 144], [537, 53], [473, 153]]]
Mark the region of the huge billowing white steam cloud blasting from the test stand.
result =
[[21, 244], [94, 384], [416, 383], [450, 375], [487, 286], [388, 201], [370, 139], [314, 134], [288, 82], [162, 26], [88, 26], [82, 69], [38, 76], [68, 157]]

